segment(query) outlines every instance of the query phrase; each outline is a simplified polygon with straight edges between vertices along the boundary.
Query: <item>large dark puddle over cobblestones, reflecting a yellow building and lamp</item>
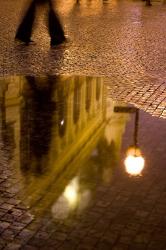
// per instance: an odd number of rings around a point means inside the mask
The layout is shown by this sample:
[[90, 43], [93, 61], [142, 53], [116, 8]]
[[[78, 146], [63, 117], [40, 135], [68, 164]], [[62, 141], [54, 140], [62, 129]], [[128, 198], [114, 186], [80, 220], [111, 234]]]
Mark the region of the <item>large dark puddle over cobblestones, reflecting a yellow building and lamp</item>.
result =
[[3, 79], [0, 249], [166, 249], [165, 120], [109, 93], [96, 77]]

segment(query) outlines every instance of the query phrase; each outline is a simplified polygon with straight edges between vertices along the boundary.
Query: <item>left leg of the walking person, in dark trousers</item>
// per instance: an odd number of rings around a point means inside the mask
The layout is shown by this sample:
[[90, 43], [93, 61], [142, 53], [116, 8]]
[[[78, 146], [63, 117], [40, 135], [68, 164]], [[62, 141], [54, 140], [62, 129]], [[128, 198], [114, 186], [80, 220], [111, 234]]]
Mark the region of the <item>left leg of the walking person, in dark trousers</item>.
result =
[[25, 43], [31, 42], [32, 26], [35, 19], [36, 0], [30, 4], [21, 24], [19, 25], [15, 39]]

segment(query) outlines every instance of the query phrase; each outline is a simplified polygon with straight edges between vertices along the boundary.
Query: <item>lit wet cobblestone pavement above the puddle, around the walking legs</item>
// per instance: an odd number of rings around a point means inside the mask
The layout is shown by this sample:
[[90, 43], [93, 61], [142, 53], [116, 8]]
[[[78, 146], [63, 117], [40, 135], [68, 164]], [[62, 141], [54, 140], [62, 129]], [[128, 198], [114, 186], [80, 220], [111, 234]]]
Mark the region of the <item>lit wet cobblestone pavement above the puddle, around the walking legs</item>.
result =
[[62, 1], [57, 9], [70, 42], [51, 50], [42, 8], [36, 45], [13, 41], [23, 0], [0, 0], [0, 75], [107, 76], [110, 95], [166, 117], [166, 5], [153, 1]]

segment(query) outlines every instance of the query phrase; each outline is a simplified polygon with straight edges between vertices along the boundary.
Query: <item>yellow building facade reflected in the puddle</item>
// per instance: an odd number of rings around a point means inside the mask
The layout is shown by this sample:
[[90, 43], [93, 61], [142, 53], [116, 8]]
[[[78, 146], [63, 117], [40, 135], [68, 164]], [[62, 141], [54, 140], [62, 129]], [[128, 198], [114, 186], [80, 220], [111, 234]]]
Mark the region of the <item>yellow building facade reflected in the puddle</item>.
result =
[[14, 145], [8, 157], [26, 203], [55, 217], [82, 211], [98, 184], [111, 181], [128, 114], [114, 112], [102, 78], [16, 76], [3, 84], [2, 141]]

